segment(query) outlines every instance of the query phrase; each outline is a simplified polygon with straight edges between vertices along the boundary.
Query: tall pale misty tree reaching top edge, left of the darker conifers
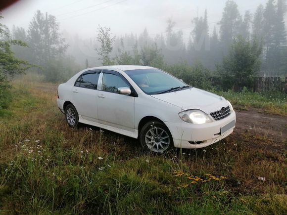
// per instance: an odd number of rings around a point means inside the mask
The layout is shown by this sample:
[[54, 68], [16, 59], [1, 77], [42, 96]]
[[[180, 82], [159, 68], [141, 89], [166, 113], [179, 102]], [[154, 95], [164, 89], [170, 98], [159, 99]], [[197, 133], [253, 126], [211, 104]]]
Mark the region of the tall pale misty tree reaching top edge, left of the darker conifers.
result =
[[241, 24], [241, 16], [239, 14], [237, 3], [233, 0], [228, 0], [222, 14], [220, 25], [220, 41], [223, 51], [227, 52], [233, 39], [239, 33]]

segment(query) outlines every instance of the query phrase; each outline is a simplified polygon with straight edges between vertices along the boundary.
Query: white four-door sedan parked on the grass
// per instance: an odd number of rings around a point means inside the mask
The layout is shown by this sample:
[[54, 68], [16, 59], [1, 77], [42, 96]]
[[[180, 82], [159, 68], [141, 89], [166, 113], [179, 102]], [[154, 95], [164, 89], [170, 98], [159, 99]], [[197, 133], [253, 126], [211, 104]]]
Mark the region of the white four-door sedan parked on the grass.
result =
[[85, 69], [58, 86], [57, 104], [70, 127], [83, 123], [138, 138], [155, 153], [211, 145], [236, 122], [222, 96], [147, 66]]

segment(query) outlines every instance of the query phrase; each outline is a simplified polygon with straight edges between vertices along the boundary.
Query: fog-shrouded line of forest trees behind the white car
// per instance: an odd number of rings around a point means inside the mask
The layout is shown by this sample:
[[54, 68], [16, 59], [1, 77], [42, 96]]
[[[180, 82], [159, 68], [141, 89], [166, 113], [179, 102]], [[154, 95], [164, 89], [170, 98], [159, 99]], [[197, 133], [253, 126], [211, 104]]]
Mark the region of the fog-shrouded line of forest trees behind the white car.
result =
[[240, 14], [237, 3], [227, 0], [221, 20], [210, 21], [207, 9], [192, 20], [188, 40], [186, 29], [177, 29], [172, 19], [165, 32], [149, 34], [145, 28], [139, 36], [115, 37], [111, 29], [99, 26], [96, 35], [84, 41], [93, 54], [75, 48], [67, 54], [69, 44], [55, 16], [39, 10], [28, 29], [14, 26], [5, 30], [5, 37], [23, 41], [25, 47], [11, 44], [11, 50], [37, 65], [32, 70], [50, 82], [66, 80], [85, 67], [136, 64], [165, 69], [192, 86], [241, 90], [252, 88], [260, 71], [287, 71], [285, 13], [286, 0], [268, 0], [254, 14]]

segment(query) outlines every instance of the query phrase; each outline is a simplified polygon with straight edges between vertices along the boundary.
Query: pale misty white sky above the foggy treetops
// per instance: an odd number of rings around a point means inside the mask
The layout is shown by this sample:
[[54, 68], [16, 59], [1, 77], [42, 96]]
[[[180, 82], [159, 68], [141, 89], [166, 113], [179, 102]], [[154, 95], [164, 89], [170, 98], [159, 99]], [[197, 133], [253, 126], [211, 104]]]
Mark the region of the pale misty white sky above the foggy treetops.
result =
[[[146, 27], [151, 36], [165, 32], [168, 18], [176, 22], [175, 29], [182, 29], [186, 40], [193, 25], [192, 18], [203, 16], [208, 10], [212, 32], [221, 19], [226, 0], [20, 0], [4, 9], [1, 20], [10, 29], [12, 25], [28, 28], [35, 11], [40, 9], [55, 15], [61, 31], [82, 38], [94, 38], [98, 24], [110, 27], [116, 35], [140, 34]], [[267, 0], [236, 0], [241, 14], [253, 13]]]

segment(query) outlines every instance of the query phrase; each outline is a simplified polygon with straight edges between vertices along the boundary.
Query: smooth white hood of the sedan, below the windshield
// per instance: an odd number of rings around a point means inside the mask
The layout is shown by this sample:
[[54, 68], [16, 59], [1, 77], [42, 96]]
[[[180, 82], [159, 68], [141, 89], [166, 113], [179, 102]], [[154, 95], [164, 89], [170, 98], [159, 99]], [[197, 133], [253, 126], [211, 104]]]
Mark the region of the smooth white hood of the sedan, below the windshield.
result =
[[195, 87], [151, 96], [176, 105], [182, 110], [199, 109], [207, 114], [228, 106], [228, 102], [222, 96]]

